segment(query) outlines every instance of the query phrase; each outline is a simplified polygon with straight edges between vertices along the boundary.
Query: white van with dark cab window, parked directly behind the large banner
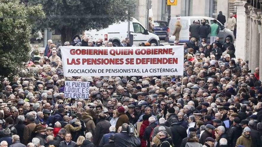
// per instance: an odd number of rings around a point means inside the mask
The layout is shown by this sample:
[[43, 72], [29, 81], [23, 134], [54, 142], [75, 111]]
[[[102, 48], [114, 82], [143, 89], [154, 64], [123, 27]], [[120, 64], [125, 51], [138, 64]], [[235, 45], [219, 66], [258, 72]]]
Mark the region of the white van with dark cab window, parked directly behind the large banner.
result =
[[[128, 22], [119, 22], [108, 26], [106, 29], [96, 31], [95, 29], [85, 31], [85, 35], [97, 40], [99, 38], [105, 41], [112, 38], [113, 44], [120, 46], [121, 40], [127, 37]], [[130, 21], [130, 34], [133, 35], [133, 45], [138, 46], [141, 42], [155, 43], [157, 46], [160, 44], [159, 37], [153, 33], [148, 32], [141, 23], [132, 18]]]

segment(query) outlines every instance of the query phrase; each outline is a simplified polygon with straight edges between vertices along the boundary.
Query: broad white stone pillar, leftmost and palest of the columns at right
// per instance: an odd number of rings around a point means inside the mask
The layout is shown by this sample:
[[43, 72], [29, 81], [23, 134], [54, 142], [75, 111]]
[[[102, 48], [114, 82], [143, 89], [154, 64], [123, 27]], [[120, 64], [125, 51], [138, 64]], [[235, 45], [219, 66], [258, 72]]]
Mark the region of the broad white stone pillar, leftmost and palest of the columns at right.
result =
[[246, 8], [244, 5], [246, 1], [235, 1], [237, 7], [237, 30], [236, 30], [236, 58], [241, 57], [243, 60], [246, 59]]

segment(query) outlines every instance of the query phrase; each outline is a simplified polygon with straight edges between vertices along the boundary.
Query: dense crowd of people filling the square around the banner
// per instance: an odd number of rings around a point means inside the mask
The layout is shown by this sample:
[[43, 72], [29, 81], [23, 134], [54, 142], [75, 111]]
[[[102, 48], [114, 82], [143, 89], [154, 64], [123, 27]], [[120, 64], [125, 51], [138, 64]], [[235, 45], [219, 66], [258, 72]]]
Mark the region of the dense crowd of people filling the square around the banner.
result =
[[[230, 39], [206, 41], [183, 44], [183, 76], [64, 77], [62, 45], [48, 40], [23, 77], [1, 81], [0, 146], [260, 147], [259, 68], [235, 58]], [[85, 36], [64, 45], [113, 46]], [[65, 98], [65, 80], [90, 82], [89, 99]]]

